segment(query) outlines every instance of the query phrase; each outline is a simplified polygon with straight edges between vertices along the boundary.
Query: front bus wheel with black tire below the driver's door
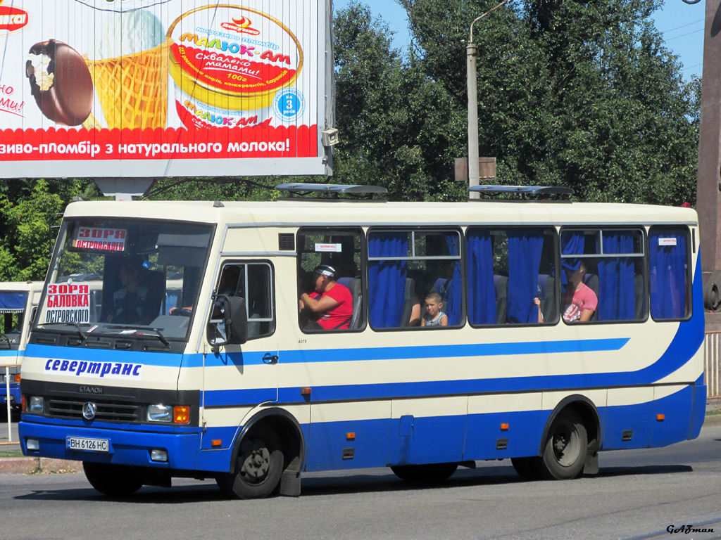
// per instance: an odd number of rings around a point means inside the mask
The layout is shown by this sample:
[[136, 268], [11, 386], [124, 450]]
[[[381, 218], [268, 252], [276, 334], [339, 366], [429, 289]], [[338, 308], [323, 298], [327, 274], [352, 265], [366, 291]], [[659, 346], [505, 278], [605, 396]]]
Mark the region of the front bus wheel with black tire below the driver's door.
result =
[[260, 424], [240, 441], [235, 472], [217, 478], [218, 487], [230, 498], [261, 499], [280, 487], [283, 450], [278, 433]]

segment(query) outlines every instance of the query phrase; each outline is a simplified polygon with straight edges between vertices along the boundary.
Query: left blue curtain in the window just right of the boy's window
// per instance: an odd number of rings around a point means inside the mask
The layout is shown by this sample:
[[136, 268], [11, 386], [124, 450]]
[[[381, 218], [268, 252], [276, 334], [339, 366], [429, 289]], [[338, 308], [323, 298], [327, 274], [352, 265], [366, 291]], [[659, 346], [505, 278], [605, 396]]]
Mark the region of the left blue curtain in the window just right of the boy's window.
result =
[[473, 325], [496, 323], [496, 297], [493, 284], [493, 243], [490, 232], [473, 232], [468, 248], [468, 319]]

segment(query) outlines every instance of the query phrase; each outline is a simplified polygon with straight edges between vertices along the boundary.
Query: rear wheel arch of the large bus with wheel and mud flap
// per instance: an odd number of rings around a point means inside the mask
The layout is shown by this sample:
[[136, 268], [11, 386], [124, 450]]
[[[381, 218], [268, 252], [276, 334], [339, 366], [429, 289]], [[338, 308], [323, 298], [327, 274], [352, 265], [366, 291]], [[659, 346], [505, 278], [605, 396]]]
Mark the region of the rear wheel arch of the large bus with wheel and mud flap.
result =
[[583, 395], [565, 397], [549, 416], [539, 449], [539, 473], [547, 479], [570, 480], [598, 473], [601, 418]]

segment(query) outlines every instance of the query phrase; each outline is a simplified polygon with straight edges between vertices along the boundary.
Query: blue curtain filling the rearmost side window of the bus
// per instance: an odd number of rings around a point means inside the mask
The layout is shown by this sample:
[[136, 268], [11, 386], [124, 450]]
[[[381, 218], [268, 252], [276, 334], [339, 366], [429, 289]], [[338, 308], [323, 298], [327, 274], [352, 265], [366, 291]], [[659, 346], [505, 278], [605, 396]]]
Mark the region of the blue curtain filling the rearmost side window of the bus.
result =
[[[686, 316], [686, 233], [651, 230], [648, 239], [651, 266], [651, 315], [655, 319]], [[673, 245], [673, 244], [676, 245]]]

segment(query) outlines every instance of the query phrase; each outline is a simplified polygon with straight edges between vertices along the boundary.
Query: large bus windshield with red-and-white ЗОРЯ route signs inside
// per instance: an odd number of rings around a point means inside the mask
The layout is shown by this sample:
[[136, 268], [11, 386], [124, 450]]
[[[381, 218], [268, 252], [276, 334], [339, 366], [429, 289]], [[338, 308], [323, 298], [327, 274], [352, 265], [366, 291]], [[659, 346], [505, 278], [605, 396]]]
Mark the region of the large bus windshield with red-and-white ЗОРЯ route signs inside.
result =
[[212, 235], [212, 225], [66, 220], [36, 328], [186, 338]]

